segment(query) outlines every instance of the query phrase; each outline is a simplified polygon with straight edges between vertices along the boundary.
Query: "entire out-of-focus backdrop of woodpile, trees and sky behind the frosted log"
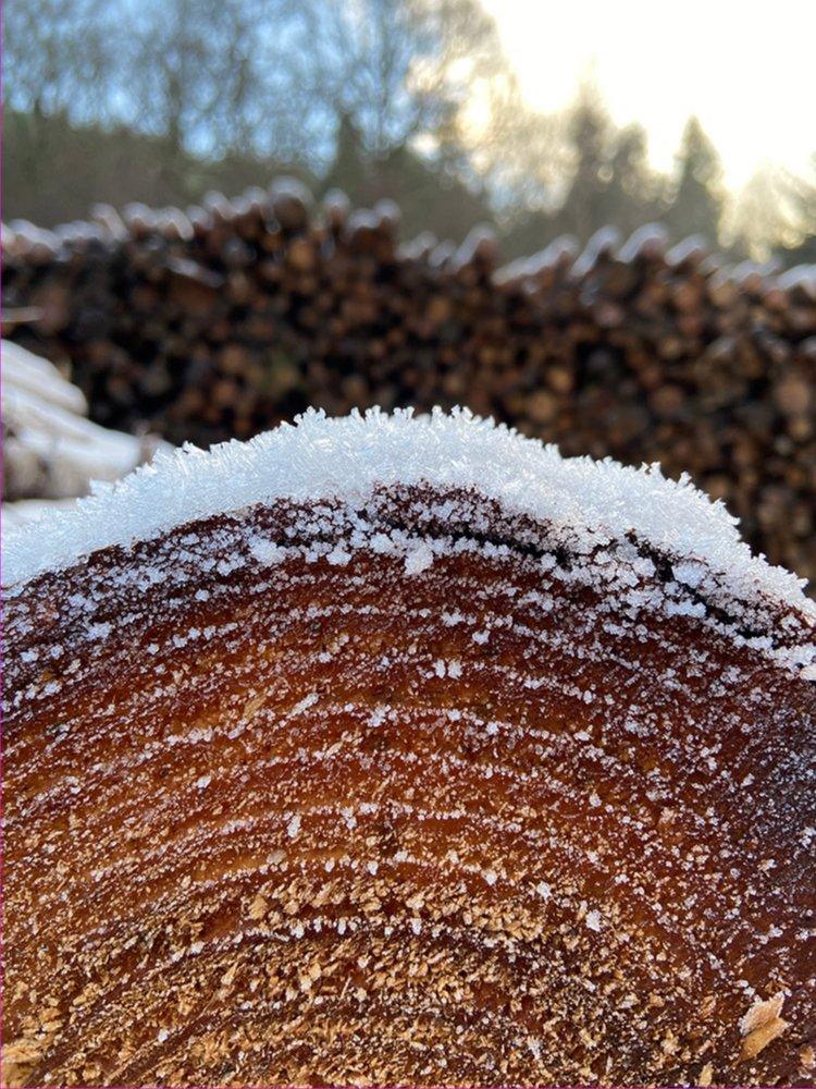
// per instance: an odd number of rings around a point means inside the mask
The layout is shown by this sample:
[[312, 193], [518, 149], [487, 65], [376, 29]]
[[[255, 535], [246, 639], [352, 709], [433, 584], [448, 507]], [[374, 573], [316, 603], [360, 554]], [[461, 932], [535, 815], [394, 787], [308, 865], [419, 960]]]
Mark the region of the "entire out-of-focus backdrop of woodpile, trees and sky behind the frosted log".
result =
[[811, 0], [4, 24], [7, 500], [308, 405], [463, 403], [687, 470], [816, 576]]

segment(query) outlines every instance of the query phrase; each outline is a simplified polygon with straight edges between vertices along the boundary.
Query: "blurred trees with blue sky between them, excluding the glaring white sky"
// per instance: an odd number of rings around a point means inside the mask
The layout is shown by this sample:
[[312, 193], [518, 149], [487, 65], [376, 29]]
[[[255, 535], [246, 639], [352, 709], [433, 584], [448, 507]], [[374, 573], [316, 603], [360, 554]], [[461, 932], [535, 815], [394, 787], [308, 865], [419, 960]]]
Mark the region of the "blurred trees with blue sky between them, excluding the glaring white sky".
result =
[[478, 0], [16, 0], [4, 125], [4, 216], [42, 225], [287, 170], [357, 205], [396, 199], [409, 233], [492, 221], [509, 257], [659, 219], [816, 260], [816, 158], [811, 179], [757, 174], [734, 206], [690, 118], [657, 173], [643, 129], [590, 87], [530, 110]]

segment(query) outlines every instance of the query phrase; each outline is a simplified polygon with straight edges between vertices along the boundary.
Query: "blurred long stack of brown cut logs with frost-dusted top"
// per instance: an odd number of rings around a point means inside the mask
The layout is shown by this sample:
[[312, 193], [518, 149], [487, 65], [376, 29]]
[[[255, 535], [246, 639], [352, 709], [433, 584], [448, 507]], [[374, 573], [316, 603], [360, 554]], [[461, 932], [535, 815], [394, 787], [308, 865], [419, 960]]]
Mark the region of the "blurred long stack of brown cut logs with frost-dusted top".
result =
[[498, 268], [399, 243], [390, 201], [103, 206], [4, 229], [7, 331], [71, 363], [106, 426], [199, 444], [308, 405], [467, 404], [566, 454], [659, 461], [722, 498], [771, 561], [816, 578], [816, 270], [729, 267], [700, 240], [604, 231]]

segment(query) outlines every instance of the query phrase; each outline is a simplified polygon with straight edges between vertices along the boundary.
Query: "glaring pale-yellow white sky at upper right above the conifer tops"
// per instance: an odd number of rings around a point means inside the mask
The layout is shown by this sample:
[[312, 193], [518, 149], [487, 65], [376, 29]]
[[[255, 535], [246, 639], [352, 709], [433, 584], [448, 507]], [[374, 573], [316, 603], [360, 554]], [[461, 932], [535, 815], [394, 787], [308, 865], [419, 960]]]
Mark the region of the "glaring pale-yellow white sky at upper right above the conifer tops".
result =
[[531, 107], [558, 110], [589, 78], [618, 124], [646, 129], [659, 169], [691, 113], [733, 189], [816, 152], [816, 0], [482, 2]]

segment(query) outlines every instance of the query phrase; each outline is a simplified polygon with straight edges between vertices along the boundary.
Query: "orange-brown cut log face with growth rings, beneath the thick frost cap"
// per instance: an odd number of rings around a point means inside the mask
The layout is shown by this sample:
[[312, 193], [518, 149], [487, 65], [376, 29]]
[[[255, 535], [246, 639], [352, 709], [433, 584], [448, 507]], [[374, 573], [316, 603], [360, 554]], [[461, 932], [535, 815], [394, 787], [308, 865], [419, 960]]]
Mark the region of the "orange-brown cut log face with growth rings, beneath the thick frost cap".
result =
[[813, 622], [474, 493], [363, 514], [12, 594], [7, 1084], [809, 1084]]

